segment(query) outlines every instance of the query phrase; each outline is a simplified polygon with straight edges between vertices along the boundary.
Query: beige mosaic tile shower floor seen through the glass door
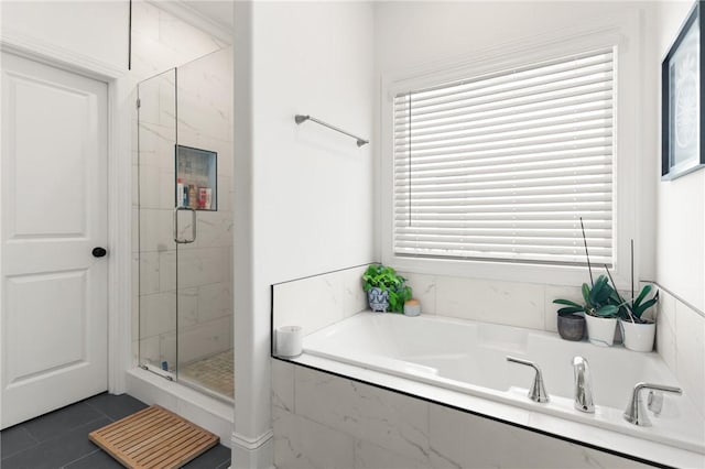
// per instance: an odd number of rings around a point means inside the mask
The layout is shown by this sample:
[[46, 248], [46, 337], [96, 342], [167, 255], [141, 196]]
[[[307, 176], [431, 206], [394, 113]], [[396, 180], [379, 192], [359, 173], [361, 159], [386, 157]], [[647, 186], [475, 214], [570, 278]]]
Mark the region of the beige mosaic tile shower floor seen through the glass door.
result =
[[235, 399], [232, 350], [226, 350], [183, 366], [178, 372], [178, 378], [228, 399]]

